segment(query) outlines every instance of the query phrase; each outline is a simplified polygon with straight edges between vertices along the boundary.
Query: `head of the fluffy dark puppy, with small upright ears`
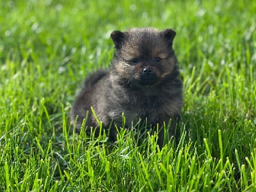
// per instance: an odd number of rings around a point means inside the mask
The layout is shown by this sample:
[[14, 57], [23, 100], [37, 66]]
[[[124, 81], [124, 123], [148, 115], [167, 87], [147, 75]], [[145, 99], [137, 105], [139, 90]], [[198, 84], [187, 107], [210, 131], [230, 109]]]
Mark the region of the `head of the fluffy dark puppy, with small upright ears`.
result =
[[115, 54], [111, 73], [120, 83], [141, 87], [156, 85], [172, 74], [177, 60], [172, 49], [173, 29], [133, 28], [113, 31]]

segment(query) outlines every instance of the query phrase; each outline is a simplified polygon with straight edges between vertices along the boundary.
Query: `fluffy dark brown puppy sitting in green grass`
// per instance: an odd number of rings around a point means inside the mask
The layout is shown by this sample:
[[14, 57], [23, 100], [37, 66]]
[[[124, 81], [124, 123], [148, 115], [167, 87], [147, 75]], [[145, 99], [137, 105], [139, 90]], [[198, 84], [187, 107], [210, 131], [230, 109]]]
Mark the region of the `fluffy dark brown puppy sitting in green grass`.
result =
[[[78, 116], [77, 131], [87, 111], [86, 125], [99, 126], [92, 115], [92, 106], [105, 129], [112, 122], [121, 127], [122, 113], [126, 127], [131, 127], [132, 122], [138, 122], [139, 118], [147, 118], [147, 124], [160, 126], [172, 118], [168, 130], [172, 136], [183, 103], [182, 81], [172, 49], [175, 35], [172, 29], [158, 31], [154, 28], [111, 33], [115, 54], [110, 70], [92, 74], [74, 102], [70, 116], [72, 124]], [[115, 135], [116, 128], [112, 125], [110, 137], [114, 139]], [[164, 131], [161, 131], [159, 145], [163, 145], [163, 139]]]

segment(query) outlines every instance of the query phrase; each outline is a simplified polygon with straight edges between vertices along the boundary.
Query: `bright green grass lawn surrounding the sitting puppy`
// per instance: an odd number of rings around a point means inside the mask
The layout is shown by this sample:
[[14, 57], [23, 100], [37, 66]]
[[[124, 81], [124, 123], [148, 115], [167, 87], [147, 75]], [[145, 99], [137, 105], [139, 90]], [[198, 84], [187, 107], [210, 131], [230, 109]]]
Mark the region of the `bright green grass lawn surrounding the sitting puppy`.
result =
[[[255, 1], [0, 1], [0, 191], [255, 191]], [[177, 31], [179, 140], [70, 134], [111, 31]], [[138, 138], [145, 138], [141, 141]], [[137, 139], [134, 139], [137, 138]]]

